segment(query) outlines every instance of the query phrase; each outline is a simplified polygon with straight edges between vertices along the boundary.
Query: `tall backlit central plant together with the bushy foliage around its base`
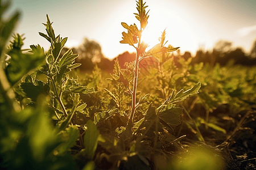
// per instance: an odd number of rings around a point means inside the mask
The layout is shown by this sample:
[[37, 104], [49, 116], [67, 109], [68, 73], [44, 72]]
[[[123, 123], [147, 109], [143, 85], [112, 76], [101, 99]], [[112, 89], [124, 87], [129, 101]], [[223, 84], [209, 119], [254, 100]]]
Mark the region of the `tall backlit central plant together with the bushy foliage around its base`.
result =
[[[127, 29], [127, 33], [122, 33], [123, 40], [120, 42], [133, 46], [136, 49], [136, 58], [134, 62], [126, 63], [126, 69], [120, 69], [115, 62], [114, 74], [108, 79], [112, 89], [105, 89], [110, 97], [108, 101], [110, 107], [108, 111], [99, 112], [96, 116], [97, 126], [100, 129], [105, 129], [102, 125], [104, 122], [108, 122], [110, 129], [108, 135], [103, 135], [105, 141], [100, 142], [109, 154], [102, 153], [98, 161], [101, 162], [102, 158], [106, 158], [119, 168], [148, 169], [152, 160], [151, 153], [162, 152], [159, 146], [163, 146], [164, 143], [159, 141], [160, 136], [168, 136], [171, 144], [183, 139], [184, 136], [175, 138], [172, 134], [174, 128], [180, 124], [180, 115], [183, 112], [182, 108], [176, 107], [176, 103], [197, 94], [201, 86], [200, 83], [196, 83], [187, 91], [172, 91], [165, 101], [157, 104], [157, 107], [148, 101], [150, 94], [142, 95], [137, 91], [139, 62], [147, 57], [155, 57], [161, 61], [163, 55], [178, 49], [171, 45], [164, 46], [163, 39], [153, 48], [146, 50], [147, 45], [141, 39], [149, 17], [146, 7], [143, 1], [137, 1], [138, 14], [135, 14], [135, 17], [141, 24], [140, 28], [136, 24], [129, 26], [121, 23]], [[127, 99], [125, 95], [127, 92], [131, 94], [131, 100]], [[130, 108], [127, 107], [129, 104]], [[117, 117], [124, 126], [114, 126], [115, 133], [113, 133], [112, 127]], [[150, 139], [153, 139], [153, 142], [150, 142]], [[137, 167], [129, 165], [132, 161], [138, 162], [139, 165]]]

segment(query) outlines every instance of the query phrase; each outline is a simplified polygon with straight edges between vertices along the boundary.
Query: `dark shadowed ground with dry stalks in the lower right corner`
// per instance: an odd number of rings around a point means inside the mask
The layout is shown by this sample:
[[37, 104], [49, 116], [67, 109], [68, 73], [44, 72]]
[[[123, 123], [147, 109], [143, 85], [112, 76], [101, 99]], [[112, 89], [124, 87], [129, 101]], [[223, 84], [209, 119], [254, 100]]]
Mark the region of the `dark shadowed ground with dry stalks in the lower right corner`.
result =
[[[191, 114], [198, 114], [200, 109], [195, 107]], [[199, 129], [205, 144], [222, 155], [226, 164], [224, 169], [256, 169], [256, 109], [234, 113], [229, 105], [220, 105], [209, 114], [210, 120], [216, 120], [216, 125], [224, 128], [226, 133], [204, 126]], [[181, 143], [198, 141], [191, 129], [183, 126], [180, 136], [184, 134], [187, 137]]]

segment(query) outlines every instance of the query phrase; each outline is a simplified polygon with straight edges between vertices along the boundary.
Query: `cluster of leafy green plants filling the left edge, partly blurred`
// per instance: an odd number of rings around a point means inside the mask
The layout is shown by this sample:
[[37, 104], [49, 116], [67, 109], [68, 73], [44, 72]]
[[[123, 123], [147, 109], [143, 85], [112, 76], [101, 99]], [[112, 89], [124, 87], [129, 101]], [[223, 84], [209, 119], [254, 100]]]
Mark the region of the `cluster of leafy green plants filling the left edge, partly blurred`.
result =
[[[67, 38], [55, 37], [48, 15], [47, 24], [44, 24], [47, 35], [39, 33], [51, 42], [47, 53], [40, 45], [23, 50], [24, 38], [19, 34], [13, 35], [13, 41], [7, 46], [20, 14], [17, 12], [4, 21], [3, 12], [9, 3], [3, 5], [0, 1], [0, 5], [0, 166], [7, 169], [77, 169], [70, 150], [74, 146], [85, 146], [84, 130], [81, 133], [81, 129], [86, 128], [74, 125], [72, 117], [85, 112], [86, 104], [81, 103], [80, 94], [94, 93], [93, 88], [83, 86], [67, 74], [80, 66], [74, 63], [78, 55], [68, 50], [60, 56]], [[41, 79], [46, 78], [46, 82], [39, 78], [42, 73], [46, 77]], [[88, 124], [85, 137], [97, 132], [94, 124]], [[84, 155], [94, 154], [94, 145], [84, 148], [87, 149], [82, 152]], [[84, 162], [81, 166], [86, 164], [85, 169], [93, 169], [94, 164], [89, 162], [92, 156], [86, 158], [88, 164]]]

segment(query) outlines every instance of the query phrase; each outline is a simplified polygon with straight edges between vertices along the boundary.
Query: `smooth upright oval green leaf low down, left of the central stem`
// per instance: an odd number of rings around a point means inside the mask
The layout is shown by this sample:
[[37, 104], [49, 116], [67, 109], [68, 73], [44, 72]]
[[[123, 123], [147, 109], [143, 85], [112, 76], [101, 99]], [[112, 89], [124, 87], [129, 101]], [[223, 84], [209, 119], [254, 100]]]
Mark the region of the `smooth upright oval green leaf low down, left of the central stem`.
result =
[[96, 151], [98, 145], [98, 138], [100, 137], [100, 133], [97, 130], [97, 127], [91, 120], [87, 123], [87, 130], [84, 135], [84, 151], [83, 154], [88, 159], [93, 159], [94, 152]]

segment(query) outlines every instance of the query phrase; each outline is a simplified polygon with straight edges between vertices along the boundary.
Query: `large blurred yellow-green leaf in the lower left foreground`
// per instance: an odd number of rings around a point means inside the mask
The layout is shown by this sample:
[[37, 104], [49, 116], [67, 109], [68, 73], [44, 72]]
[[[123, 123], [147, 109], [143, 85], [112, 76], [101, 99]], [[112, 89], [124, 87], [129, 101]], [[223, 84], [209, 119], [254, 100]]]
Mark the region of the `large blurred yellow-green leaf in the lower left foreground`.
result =
[[20, 139], [16, 148], [16, 155], [14, 156], [16, 160], [24, 158], [23, 154], [30, 155], [29, 152], [32, 152], [32, 159], [29, 159], [29, 161], [43, 162], [54, 148], [60, 144], [61, 140], [56, 131], [53, 130], [51, 121], [46, 114], [46, 108], [46, 104], [42, 103], [36, 109], [26, 109], [24, 111], [31, 112], [31, 116], [28, 121], [24, 122], [27, 126], [26, 135]]

